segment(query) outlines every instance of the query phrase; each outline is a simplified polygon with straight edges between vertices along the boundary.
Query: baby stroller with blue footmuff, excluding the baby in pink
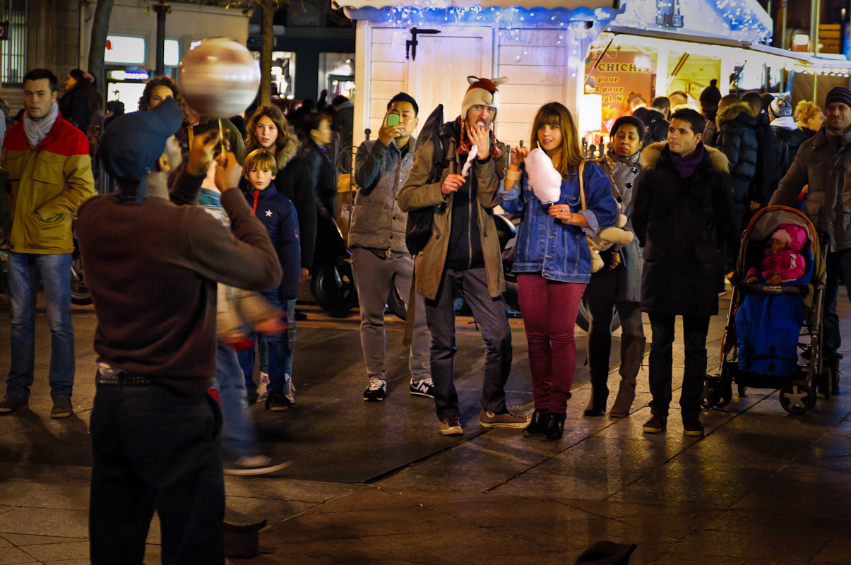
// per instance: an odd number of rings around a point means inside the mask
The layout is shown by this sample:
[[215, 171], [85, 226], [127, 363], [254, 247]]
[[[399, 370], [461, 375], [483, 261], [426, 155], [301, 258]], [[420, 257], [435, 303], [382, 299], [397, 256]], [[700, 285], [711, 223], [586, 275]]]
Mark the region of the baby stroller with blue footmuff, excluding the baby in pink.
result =
[[[806, 231], [802, 277], [776, 286], [762, 284], [764, 279], [745, 283], [748, 269], [760, 264], [766, 241], [787, 224]], [[819, 242], [812, 222], [795, 208], [769, 206], [753, 215], [730, 279], [733, 295], [721, 341], [721, 371], [707, 377], [704, 408], [726, 406], [733, 382], [739, 396], [747, 387], [780, 388], [780, 406], [790, 414], [813, 408], [817, 391], [825, 399], [837, 392], [839, 375], [824, 365], [821, 351], [827, 245]]]

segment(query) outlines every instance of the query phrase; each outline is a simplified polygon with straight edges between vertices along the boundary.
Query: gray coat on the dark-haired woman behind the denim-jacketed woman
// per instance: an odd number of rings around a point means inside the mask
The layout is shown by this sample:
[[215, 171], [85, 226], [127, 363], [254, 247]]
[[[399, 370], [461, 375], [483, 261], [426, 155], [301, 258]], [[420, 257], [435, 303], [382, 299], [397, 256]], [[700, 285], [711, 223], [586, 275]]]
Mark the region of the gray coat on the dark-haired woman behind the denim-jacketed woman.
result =
[[[642, 168], [641, 157], [631, 165], [621, 163], [611, 155], [597, 161], [600, 168], [605, 171], [609, 180], [612, 181], [612, 196], [620, 204], [620, 213], [631, 216], [632, 187]], [[625, 230], [633, 231], [631, 218], [627, 220]], [[632, 242], [620, 248], [623, 266], [618, 268], [617, 302], [638, 302], [641, 300], [641, 271], [644, 265], [641, 248], [638, 246], [638, 238], [634, 237]], [[604, 269], [606, 267], [603, 267]], [[602, 272], [602, 271], [601, 271]], [[595, 292], [595, 275], [591, 275], [591, 282], [585, 288], [585, 293]]]

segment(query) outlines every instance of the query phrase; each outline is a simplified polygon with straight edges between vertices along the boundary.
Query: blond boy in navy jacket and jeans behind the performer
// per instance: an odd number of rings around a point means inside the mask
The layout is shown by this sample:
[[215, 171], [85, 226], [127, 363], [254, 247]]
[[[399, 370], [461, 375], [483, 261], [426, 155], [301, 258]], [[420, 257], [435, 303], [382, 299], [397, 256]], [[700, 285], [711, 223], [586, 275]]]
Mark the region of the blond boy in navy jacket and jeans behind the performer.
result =
[[[252, 151], [245, 157], [245, 177], [248, 188], [245, 197], [254, 215], [266, 226], [272, 245], [277, 250], [281, 262], [283, 277], [277, 288], [263, 293], [273, 305], [283, 309], [286, 300], [293, 300], [299, 292], [301, 251], [299, 242], [299, 220], [293, 203], [275, 189], [277, 163], [275, 156], [265, 149]], [[289, 387], [292, 375], [286, 368], [291, 366], [294, 340], [289, 340], [287, 332], [266, 336], [269, 345], [269, 396], [266, 397], [266, 409], [283, 411], [291, 403]], [[254, 348], [239, 354], [239, 364], [245, 374], [245, 384], [249, 393], [255, 391], [252, 374], [254, 372]]]

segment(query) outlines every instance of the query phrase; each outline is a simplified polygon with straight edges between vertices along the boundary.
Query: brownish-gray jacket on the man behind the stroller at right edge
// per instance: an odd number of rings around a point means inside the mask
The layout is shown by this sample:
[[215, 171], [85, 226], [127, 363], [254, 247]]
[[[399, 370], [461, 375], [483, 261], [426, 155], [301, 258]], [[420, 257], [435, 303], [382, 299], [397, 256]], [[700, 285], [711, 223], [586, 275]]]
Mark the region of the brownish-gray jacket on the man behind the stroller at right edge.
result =
[[820, 128], [815, 137], [798, 147], [795, 161], [769, 206], [797, 208], [798, 195], [805, 185], [807, 198], [802, 212], [820, 233], [830, 236], [831, 251], [851, 248], [851, 208], [842, 203], [843, 183], [851, 191], [846, 171], [851, 168], [851, 132], [830, 135]]

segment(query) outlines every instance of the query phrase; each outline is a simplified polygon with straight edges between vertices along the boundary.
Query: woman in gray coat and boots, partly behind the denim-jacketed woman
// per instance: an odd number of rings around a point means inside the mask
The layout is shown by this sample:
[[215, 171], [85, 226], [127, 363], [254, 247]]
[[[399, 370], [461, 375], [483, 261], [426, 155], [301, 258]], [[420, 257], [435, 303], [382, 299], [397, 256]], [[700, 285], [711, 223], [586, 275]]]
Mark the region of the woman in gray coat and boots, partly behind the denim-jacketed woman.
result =
[[[641, 146], [644, 124], [637, 117], [619, 117], [612, 126], [612, 149], [597, 164], [612, 180], [612, 196], [620, 211], [630, 214], [632, 185], [642, 168]], [[632, 231], [627, 220], [625, 230]], [[644, 328], [641, 320], [641, 271], [643, 259], [638, 239], [604, 257], [605, 265], [591, 275], [585, 288], [585, 303], [591, 313], [588, 328], [588, 367], [591, 369], [591, 398], [585, 416], [602, 416], [608, 400], [608, 358], [612, 349], [614, 308], [620, 317], [620, 385], [609, 418], [630, 414], [636, 396], [636, 377], [644, 358]]]

